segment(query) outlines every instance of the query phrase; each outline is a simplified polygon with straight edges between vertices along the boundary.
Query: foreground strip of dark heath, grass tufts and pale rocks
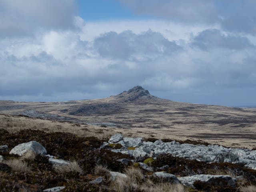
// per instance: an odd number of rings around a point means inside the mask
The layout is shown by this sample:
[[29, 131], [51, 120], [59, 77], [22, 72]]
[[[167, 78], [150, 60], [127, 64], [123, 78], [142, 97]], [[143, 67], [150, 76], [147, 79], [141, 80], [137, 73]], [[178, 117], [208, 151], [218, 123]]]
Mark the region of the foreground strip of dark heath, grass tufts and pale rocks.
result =
[[255, 190], [254, 150], [120, 134], [98, 139], [1, 129], [0, 135], [4, 192]]

